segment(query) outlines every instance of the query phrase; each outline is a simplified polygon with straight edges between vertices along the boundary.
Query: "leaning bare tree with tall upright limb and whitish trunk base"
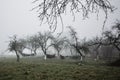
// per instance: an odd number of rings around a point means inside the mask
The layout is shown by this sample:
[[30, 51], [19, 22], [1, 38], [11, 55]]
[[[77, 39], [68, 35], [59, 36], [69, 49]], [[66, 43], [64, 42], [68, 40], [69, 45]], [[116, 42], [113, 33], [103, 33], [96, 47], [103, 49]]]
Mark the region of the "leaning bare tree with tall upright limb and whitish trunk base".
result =
[[69, 33], [71, 36], [71, 41], [69, 40], [69, 44], [70, 46], [81, 56], [81, 61], [83, 61], [83, 57], [85, 57], [85, 55], [83, 54], [83, 52], [87, 52], [89, 51], [87, 44], [84, 43], [80, 43], [78, 41], [78, 37], [77, 37], [77, 32], [74, 30], [74, 28], [72, 28], [71, 26], [68, 27], [69, 28]]

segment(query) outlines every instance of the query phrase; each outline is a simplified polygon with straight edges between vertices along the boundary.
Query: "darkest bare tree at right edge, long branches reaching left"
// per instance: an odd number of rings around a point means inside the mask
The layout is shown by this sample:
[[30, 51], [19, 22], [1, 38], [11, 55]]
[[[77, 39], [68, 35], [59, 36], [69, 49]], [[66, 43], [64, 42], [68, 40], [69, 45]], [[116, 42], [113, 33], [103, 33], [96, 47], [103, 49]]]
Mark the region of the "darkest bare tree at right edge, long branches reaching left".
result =
[[[111, 30], [106, 30], [102, 33], [102, 37], [96, 37], [89, 43], [89, 46], [96, 46], [96, 59], [99, 58], [99, 51], [100, 47], [112, 47], [116, 48], [120, 51], [120, 22], [117, 21], [111, 28]], [[119, 54], [120, 55], [120, 54]]]

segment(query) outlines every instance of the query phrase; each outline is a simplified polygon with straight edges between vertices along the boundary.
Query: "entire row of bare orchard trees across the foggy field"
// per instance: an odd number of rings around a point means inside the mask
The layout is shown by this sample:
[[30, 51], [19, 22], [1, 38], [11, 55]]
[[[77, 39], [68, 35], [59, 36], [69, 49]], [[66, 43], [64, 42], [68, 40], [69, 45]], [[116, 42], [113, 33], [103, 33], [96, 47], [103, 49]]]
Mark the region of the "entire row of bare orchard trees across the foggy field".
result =
[[[79, 54], [81, 57], [81, 61], [83, 57], [85, 57], [86, 53], [96, 54], [96, 59], [98, 60], [100, 52], [103, 47], [112, 47], [120, 52], [120, 23], [117, 22], [112, 26], [111, 30], [106, 30], [102, 33], [101, 37], [95, 37], [92, 40], [86, 41], [79, 40], [77, 36], [77, 32], [71, 26], [68, 27], [70, 37], [55, 37], [51, 32], [38, 32], [35, 35], [32, 35], [26, 39], [17, 39], [17, 36], [13, 36], [10, 38], [9, 50], [14, 51], [17, 56], [17, 61], [20, 59], [20, 55], [22, 56], [35, 56], [38, 54], [37, 50], [40, 50], [44, 53], [45, 59], [48, 57], [55, 57], [57, 55], [59, 58], [62, 58], [61, 51], [69, 50], [71, 54]], [[56, 54], [51, 55], [48, 54], [48, 49], [53, 48], [56, 51]], [[23, 53], [25, 49], [29, 49], [31, 51], [30, 54]], [[100, 51], [101, 50], [101, 51]], [[110, 54], [110, 52], [107, 52]], [[120, 57], [120, 53], [119, 56]]]

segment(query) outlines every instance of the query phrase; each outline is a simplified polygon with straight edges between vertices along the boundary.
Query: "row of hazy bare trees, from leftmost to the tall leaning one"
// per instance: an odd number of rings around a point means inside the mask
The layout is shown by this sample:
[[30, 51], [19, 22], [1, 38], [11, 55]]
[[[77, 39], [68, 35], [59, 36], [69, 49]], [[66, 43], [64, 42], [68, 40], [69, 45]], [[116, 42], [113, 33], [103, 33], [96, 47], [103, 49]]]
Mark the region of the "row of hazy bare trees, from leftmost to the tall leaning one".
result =
[[[49, 31], [44, 33], [38, 32], [37, 34], [29, 36], [26, 39], [18, 39], [17, 36], [14, 35], [13, 37], [10, 37], [8, 49], [15, 52], [18, 62], [20, 60], [20, 55], [34, 56], [38, 54], [37, 50], [41, 50], [44, 53], [45, 59], [47, 57], [54, 56], [47, 53], [48, 49], [51, 47], [56, 51], [57, 56], [60, 58], [63, 58], [60, 52], [66, 48], [69, 49], [71, 53], [76, 51], [81, 56], [82, 60], [82, 57], [84, 57], [82, 52], [88, 51], [87, 45], [83, 42], [80, 43], [77, 37], [77, 32], [71, 26], [69, 26], [68, 29], [70, 38], [61, 36], [55, 37]], [[24, 53], [23, 51], [25, 49], [29, 49], [31, 53]]]

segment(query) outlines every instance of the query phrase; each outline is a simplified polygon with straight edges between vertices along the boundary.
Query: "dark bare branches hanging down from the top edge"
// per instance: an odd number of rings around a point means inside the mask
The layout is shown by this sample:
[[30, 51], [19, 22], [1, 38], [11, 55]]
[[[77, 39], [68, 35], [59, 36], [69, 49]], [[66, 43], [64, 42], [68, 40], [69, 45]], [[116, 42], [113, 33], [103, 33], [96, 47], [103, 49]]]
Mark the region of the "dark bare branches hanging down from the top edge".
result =
[[63, 25], [62, 14], [65, 14], [68, 9], [73, 19], [75, 19], [75, 13], [88, 18], [89, 14], [99, 14], [101, 10], [105, 13], [105, 23], [108, 12], [112, 12], [114, 8], [109, 0], [34, 0], [33, 3], [37, 5], [33, 10], [37, 9], [41, 23], [47, 22], [52, 30], [56, 29], [58, 20]]

